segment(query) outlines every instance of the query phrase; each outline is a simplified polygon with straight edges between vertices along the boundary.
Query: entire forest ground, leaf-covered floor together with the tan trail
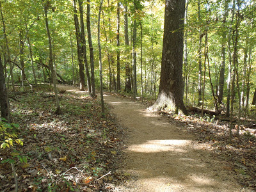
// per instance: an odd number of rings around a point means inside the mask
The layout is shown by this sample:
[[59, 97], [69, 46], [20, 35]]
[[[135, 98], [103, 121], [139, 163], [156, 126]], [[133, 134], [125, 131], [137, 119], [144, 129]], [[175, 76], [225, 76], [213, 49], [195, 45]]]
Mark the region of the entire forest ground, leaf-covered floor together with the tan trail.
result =
[[[24, 147], [1, 158], [28, 159], [15, 166], [20, 191], [255, 191], [255, 130], [228, 144], [227, 127], [207, 118], [159, 115], [113, 94], [102, 117], [99, 100], [59, 88], [61, 115], [48, 90], [11, 102]], [[0, 191], [15, 188], [10, 164], [0, 179]]]

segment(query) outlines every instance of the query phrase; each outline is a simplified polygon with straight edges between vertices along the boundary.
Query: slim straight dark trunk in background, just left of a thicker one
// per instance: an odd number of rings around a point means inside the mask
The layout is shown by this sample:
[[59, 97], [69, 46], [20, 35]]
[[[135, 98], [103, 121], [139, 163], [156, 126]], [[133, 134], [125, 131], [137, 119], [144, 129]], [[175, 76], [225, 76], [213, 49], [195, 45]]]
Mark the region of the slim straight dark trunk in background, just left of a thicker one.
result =
[[121, 91], [121, 80], [120, 80], [120, 39], [119, 39], [119, 33], [120, 33], [120, 2], [117, 3], [117, 22], [116, 22], [116, 46], [117, 46], [117, 52], [116, 52], [116, 80], [117, 80], [117, 92]]

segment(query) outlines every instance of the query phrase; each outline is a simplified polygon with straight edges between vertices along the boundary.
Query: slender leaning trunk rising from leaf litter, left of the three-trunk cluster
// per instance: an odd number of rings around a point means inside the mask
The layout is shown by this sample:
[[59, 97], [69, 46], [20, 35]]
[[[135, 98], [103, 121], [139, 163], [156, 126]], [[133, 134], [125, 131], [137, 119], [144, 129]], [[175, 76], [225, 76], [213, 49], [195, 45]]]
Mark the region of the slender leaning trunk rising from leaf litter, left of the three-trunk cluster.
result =
[[48, 41], [49, 41], [49, 67], [51, 68], [51, 77], [52, 77], [52, 83], [53, 83], [53, 86], [54, 86], [56, 108], [57, 108], [55, 113], [57, 115], [59, 115], [61, 113], [61, 111], [60, 111], [60, 102], [59, 102], [59, 97], [58, 97], [56, 71], [54, 70], [54, 67], [53, 67], [52, 40], [51, 40], [51, 34], [50, 34], [50, 30], [49, 30], [48, 17], [47, 17], [47, 12], [48, 12], [48, 8], [49, 8], [48, 7], [49, 6], [48, 3], [44, 5], [45, 28], [46, 28], [46, 31], [47, 31], [47, 36], [48, 36]]

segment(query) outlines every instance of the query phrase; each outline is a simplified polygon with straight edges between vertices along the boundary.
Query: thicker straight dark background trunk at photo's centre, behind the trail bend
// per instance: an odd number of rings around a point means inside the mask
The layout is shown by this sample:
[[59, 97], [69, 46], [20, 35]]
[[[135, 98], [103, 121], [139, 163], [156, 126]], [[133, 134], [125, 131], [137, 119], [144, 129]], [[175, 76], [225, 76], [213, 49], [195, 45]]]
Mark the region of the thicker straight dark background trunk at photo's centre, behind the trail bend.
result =
[[124, 39], [125, 39], [125, 92], [131, 92], [132, 91], [132, 85], [131, 85], [131, 72], [130, 72], [130, 63], [128, 61], [129, 59], [129, 36], [128, 36], [128, 6], [127, 1], [125, 1], [124, 6]]

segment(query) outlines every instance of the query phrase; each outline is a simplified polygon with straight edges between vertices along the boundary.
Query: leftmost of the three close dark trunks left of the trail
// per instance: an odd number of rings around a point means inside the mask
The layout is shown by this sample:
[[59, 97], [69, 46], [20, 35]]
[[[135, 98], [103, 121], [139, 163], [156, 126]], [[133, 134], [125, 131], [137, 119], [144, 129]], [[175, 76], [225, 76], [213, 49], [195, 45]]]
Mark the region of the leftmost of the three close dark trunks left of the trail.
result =
[[74, 21], [75, 21], [75, 28], [76, 28], [76, 44], [77, 44], [77, 57], [78, 57], [78, 65], [79, 65], [80, 90], [84, 90], [85, 80], [84, 80], [84, 65], [82, 60], [83, 50], [81, 48], [82, 41], [81, 41], [79, 22], [77, 17], [76, 0], [74, 0]]

